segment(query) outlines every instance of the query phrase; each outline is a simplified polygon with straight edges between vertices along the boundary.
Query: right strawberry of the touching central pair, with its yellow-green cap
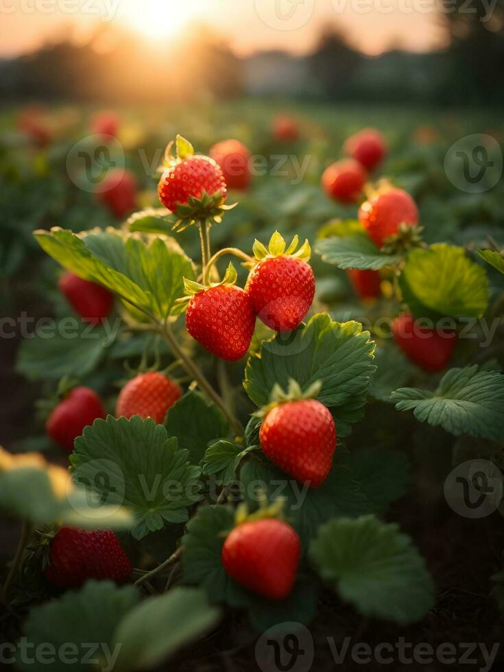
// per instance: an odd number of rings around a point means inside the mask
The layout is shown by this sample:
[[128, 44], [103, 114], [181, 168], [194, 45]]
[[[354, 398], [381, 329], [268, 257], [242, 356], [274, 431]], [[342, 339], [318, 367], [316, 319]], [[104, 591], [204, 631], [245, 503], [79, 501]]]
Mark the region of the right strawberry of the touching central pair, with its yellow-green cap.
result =
[[256, 265], [250, 272], [245, 291], [254, 313], [275, 331], [292, 331], [309, 311], [315, 295], [315, 276], [307, 261], [310, 245], [294, 252], [299, 238], [295, 236], [285, 250], [285, 240], [274, 232], [269, 248], [255, 241]]

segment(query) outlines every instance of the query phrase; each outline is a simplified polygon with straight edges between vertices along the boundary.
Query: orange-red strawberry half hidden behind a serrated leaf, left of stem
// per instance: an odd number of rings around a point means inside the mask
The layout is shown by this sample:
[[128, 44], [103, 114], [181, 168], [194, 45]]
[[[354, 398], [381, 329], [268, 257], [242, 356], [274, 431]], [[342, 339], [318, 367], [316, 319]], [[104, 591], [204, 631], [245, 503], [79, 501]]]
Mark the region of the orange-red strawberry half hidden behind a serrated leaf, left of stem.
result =
[[182, 389], [158, 372], [139, 374], [128, 381], [117, 398], [116, 417], [152, 418], [162, 424], [169, 408], [182, 396]]

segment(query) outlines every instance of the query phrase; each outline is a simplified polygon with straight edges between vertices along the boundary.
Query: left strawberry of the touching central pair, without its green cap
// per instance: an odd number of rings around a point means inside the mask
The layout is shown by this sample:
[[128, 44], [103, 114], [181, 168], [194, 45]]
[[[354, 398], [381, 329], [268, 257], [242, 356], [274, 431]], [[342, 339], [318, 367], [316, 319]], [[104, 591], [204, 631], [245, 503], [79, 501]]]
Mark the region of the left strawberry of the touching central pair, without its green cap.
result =
[[187, 331], [208, 352], [237, 361], [248, 352], [256, 317], [248, 295], [234, 285], [195, 293], [186, 311]]

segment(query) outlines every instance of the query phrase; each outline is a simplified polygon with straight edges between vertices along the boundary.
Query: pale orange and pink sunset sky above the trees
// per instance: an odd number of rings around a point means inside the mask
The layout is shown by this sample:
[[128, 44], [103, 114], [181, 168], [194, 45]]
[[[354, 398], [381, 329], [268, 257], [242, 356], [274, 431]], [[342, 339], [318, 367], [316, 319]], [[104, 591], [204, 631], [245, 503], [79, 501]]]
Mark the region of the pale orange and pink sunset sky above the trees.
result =
[[241, 54], [307, 52], [327, 23], [339, 25], [365, 53], [424, 51], [442, 45], [434, 7], [429, 0], [1, 0], [0, 53], [16, 56], [69, 29], [85, 40], [97, 24], [169, 40], [189, 21], [212, 25]]

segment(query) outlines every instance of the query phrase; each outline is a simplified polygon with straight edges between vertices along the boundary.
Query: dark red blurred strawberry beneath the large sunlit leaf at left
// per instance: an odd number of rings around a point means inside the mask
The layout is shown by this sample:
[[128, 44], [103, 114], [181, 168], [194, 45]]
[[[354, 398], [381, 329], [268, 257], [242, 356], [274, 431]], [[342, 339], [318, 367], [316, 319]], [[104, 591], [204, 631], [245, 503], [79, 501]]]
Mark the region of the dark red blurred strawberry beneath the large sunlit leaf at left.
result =
[[84, 322], [99, 324], [110, 315], [114, 295], [105, 287], [69, 271], [58, 280], [58, 288]]

